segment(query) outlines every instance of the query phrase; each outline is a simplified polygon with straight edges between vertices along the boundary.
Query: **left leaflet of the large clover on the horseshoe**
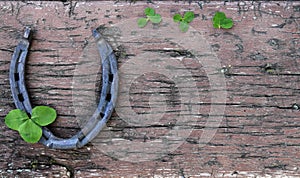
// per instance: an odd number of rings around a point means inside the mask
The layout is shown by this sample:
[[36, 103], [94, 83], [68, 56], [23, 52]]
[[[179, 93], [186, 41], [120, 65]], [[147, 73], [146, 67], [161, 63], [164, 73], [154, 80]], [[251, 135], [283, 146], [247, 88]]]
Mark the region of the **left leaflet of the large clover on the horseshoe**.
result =
[[12, 130], [19, 130], [19, 127], [28, 119], [26, 112], [14, 109], [6, 115], [5, 124]]

